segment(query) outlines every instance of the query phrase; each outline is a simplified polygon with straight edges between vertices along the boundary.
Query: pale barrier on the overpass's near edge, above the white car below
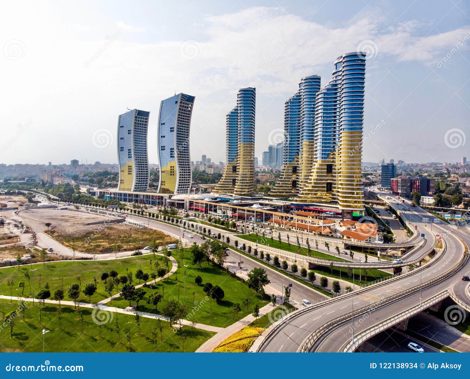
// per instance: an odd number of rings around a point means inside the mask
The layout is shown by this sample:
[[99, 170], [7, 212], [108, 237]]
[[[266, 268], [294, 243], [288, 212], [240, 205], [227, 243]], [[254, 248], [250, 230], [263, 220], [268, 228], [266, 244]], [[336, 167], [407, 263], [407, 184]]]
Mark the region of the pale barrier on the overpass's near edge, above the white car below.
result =
[[432, 298], [429, 298], [421, 303], [421, 305], [414, 306], [412, 308], [407, 309], [405, 312], [397, 314], [381, 323], [377, 323], [372, 328], [368, 329], [367, 331], [363, 331], [362, 333], [358, 334], [354, 340], [351, 340], [346, 347], [343, 349], [343, 353], [353, 353], [358, 346], [365, 340], [369, 339], [372, 336], [375, 336], [377, 333], [384, 331], [397, 323], [406, 320], [414, 316], [415, 314], [423, 312], [426, 308], [433, 306], [439, 301], [444, 300], [450, 296], [450, 292], [445, 290], [437, 295], [434, 295]]

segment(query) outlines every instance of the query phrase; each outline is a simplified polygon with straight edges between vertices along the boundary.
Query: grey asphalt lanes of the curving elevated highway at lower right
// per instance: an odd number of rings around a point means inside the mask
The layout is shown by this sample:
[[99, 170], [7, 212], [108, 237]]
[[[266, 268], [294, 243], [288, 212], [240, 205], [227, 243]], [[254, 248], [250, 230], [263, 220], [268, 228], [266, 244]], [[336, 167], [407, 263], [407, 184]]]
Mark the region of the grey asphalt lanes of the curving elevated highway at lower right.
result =
[[[428, 239], [424, 248], [429, 248], [434, 244], [433, 235], [423, 222], [419, 221], [419, 217], [424, 214], [421, 208], [406, 211], [405, 217], [413, 219], [417, 229], [420, 233], [427, 234]], [[312, 309], [310, 312], [300, 314], [297, 317], [291, 318], [287, 323], [284, 323], [261, 347], [260, 351], [266, 352], [295, 352], [303, 345], [305, 339], [321, 325], [324, 325], [329, 320], [335, 317], [351, 312], [353, 308], [358, 309], [362, 306], [368, 306], [382, 298], [387, 298], [393, 294], [398, 294], [406, 289], [420, 284], [421, 281], [426, 282], [452, 268], [463, 256], [464, 248], [460, 241], [455, 237], [458, 235], [467, 244], [470, 244], [469, 234], [463, 233], [461, 230], [452, 232], [448, 225], [436, 226], [447, 242], [447, 252], [441, 259], [437, 259], [433, 264], [425, 266], [422, 272], [412, 272], [409, 275], [400, 277], [399, 280], [394, 282], [384, 282], [379, 287], [372, 287], [366, 289], [364, 292], [349, 297], [337, 298], [332, 303], [325, 306]], [[455, 282], [460, 281], [461, 272], [467, 272], [469, 269], [468, 263], [446, 279], [444, 282], [439, 282], [429, 288], [423, 289], [423, 300], [431, 298], [436, 293], [442, 290], [451, 288]], [[377, 308], [375, 311], [356, 320], [354, 323], [354, 333], [357, 335], [361, 331], [369, 329], [372, 325], [389, 318], [392, 314], [398, 314], [407, 310], [411, 306], [419, 304], [420, 292], [417, 291], [400, 301]], [[467, 299], [466, 303], [469, 303]], [[316, 351], [332, 352], [342, 351], [343, 347], [351, 340], [352, 331], [351, 325], [340, 325], [334, 331], [328, 333], [321, 339]]]

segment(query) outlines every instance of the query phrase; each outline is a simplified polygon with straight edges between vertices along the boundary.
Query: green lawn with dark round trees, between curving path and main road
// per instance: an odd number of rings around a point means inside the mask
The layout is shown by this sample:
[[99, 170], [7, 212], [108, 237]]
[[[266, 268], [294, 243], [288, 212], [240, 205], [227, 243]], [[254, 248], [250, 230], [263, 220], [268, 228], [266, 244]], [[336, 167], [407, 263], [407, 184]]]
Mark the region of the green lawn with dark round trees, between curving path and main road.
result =
[[[267, 300], [263, 300], [254, 290], [248, 288], [246, 284], [222, 271], [218, 266], [203, 262], [201, 264], [202, 268], [199, 268], [198, 264], [193, 264], [189, 249], [184, 251], [183, 258], [183, 265], [188, 265], [186, 268], [186, 300], [184, 300], [184, 266], [181, 265], [179, 251], [174, 250], [173, 257], [179, 262], [176, 273], [170, 275], [170, 277], [165, 276], [163, 281], [157, 282], [155, 290], [148, 287], [144, 288], [147, 293], [139, 303], [139, 311], [159, 314], [160, 310], [163, 309], [169, 300], [179, 300], [182, 304], [188, 306], [188, 315], [185, 319], [195, 323], [227, 327], [246, 315], [251, 314], [255, 303], [258, 303], [260, 308], [268, 303]], [[145, 267], [147, 267], [147, 270]], [[142, 270], [150, 272], [149, 266], [145, 267], [142, 266]], [[197, 275], [202, 277], [202, 285], [195, 283]], [[207, 282], [212, 283], [214, 286], [219, 285], [224, 291], [225, 296], [219, 303], [207, 297], [204, 292], [204, 283]], [[153, 284], [153, 281], [149, 280], [147, 283]], [[147, 304], [147, 298], [154, 291], [164, 295], [164, 301], [158, 304], [157, 309], [155, 309], [155, 306]], [[246, 306], [243, 306], [245, 298], [251, 299], [249, 311], [246, 310]], [[242, 308], [241, 312], [235, 314], [235, 318], [230, 309], [234, 303], [240, 303]], [[125, 308], [129, 306], [129, 301], [118, 297], [112, 300], [112, 305]]]

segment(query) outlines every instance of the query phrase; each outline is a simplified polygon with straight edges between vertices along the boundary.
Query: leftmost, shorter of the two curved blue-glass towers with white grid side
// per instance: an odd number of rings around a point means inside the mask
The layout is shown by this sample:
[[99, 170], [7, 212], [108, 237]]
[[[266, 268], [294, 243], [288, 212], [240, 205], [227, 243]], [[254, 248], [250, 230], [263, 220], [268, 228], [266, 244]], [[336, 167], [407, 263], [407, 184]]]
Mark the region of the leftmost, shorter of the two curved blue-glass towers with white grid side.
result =
[[119, 191], [147, 191], [149, 188], [149, 114], [134, 109], [118, 117]]

